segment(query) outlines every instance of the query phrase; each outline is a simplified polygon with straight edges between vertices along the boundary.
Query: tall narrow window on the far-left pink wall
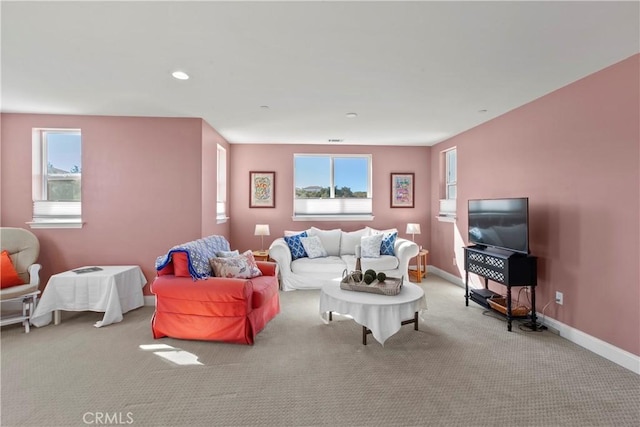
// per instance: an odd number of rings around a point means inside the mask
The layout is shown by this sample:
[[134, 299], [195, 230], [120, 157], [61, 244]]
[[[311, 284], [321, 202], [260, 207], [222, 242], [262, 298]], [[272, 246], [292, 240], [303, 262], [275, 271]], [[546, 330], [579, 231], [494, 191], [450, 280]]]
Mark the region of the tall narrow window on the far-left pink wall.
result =
[[32, 228], [82, 226], [80, 129], [33, 129]]

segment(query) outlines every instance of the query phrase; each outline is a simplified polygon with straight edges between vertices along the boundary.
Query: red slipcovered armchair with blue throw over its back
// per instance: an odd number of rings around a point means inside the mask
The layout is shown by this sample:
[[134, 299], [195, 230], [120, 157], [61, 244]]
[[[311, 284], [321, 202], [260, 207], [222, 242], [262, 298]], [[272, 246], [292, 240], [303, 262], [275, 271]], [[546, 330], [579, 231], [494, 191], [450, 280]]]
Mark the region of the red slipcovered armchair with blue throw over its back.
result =
[[176, 276], [172, 265], [151, 284], [156, 310], [154, 338], [253, 344], [256, 335], [280, 312], [277, 264], [257, 261], [262, 276], [251, 279]]

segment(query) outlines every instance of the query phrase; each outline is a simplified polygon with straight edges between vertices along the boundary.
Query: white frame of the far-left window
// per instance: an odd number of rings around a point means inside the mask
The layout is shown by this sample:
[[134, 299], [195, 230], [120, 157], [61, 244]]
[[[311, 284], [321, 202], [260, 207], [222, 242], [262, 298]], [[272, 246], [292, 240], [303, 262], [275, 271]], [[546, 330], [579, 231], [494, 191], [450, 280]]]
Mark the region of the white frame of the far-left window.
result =
[[[47, 136], [49, 134], [78, 134], [80, 129], [33, 128], [32, 129], [32, 185], [33, 218], [27, 222], [31, 228], [82, 228], [82, 196], [80, 201], [48, 200], [47, 183], [55, 179], [77, 179], [82, 188], [82, 173], [50, 176], [47, 165]], [[81, 142], [82, 144], [82, 142]], [[80, 150], [82, 150], [82, 145]]]

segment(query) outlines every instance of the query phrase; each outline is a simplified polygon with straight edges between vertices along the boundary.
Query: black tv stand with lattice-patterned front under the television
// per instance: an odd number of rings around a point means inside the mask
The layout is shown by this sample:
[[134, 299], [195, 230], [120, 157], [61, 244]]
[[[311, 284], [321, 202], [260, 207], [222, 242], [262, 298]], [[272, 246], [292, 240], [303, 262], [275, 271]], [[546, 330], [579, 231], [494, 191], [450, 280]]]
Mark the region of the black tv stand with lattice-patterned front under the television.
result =
[[[495, 249], [484, 246], [467, 246], [464, 248], [464, 297], [465, 304], [469, 306], [469, 299], [487, 307], [481, 298], [476, 295], [469, 295], [469, 273], [477, 274], [484, 278], [484, 288], [489, 291], [489, 280], [500, 283], [507, 288], [507, 330], [511, 331], [511, 322], [514, 319], [511, 311], [511, 287], [529, 286], [531, 289], [531, 314], [530, 327], [534, 331], [537, 329], [536, 318], [536, 285], [537, 258], [527, 254], [519, 254], [502, 249]], [[473, 294], [473, 292], [472, 292]], [[482, 292], [486, 294], [486, 292]], [[489, 307], [487, 307], [489, 308]]]

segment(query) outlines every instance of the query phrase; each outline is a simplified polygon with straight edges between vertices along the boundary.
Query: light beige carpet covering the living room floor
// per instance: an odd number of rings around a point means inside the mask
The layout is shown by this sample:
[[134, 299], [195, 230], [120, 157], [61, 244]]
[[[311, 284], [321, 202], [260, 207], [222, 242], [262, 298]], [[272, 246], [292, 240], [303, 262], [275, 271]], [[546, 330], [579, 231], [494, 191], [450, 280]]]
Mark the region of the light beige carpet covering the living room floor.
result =
[[[527, 332], [464, 305], [464, 290], [422, 283], [428, 310], [381, 346], [318, 291], [281, 292], [254, 346], [154, 340], [152, 308], [96, 329], [2, 329], [2, 426], [637, 426], [640, 377], [548, 331]], [[141, 344], [198, 356], [179, 366]], [[88, 414], [88, 415], [87, 415]], [[104, 418], [110, 417], [110, 418]], [[104, 422], [110, 421], [110, 422]], [[117, 421], [117, 422], [114, 422]]]

